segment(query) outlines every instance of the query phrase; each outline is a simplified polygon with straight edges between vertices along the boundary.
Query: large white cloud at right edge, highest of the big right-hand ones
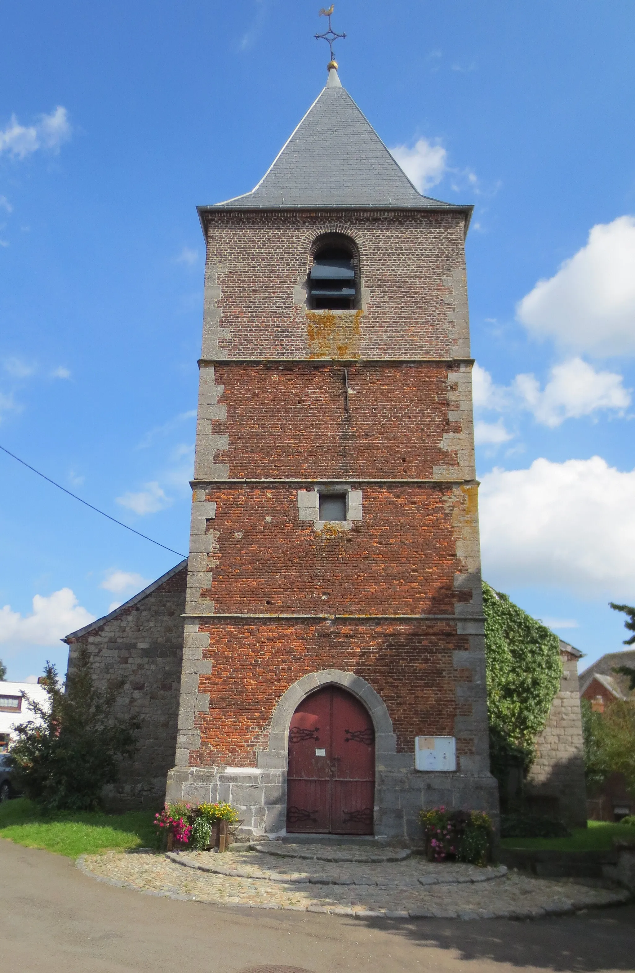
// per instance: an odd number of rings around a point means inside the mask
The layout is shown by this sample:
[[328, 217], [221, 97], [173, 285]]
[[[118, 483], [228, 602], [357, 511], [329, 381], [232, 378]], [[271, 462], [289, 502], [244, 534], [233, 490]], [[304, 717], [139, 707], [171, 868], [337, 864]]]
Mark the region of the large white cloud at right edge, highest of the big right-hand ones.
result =
[[586, 245], [516, 307], [537, 338], [606, 356], [635, 352], [635, 217], [599, 223]]

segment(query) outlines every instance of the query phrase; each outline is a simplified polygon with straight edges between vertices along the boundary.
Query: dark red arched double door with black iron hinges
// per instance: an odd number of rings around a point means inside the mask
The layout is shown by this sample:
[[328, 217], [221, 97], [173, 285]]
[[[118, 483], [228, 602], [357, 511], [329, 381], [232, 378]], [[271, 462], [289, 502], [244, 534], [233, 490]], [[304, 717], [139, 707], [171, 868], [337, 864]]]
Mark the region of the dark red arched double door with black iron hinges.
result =
[[371, 835], [374, 730], [351, 693], [325, 686], [302, 700], [289, 727], [287, 831]]

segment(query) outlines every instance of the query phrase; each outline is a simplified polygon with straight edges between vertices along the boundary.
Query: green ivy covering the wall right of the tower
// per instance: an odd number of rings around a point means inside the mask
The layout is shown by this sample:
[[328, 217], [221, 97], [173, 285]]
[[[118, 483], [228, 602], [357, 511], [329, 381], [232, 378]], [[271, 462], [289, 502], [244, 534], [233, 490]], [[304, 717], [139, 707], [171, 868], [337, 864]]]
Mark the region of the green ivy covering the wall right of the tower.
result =
[[492, 764], [527, 768], [560, 688], [558, 637], [484, 582], [483, 614]]

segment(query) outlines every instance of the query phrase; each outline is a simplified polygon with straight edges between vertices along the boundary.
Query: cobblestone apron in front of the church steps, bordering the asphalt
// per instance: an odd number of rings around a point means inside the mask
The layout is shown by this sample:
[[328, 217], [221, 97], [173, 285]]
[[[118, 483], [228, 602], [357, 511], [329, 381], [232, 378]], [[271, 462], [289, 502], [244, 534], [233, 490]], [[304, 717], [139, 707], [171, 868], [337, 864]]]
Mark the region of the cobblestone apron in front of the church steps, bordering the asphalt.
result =
[[[211, 857], [210, 852], [202, 854]], [[399, 867], [403, 869], [410, 861]], [[292, 909], [358, 918], [538, 919], [594, 906], [617, 905], [629, 897], [617, 887], [593, 887], [573, 880], [547, 881], [517, 872], [480, 883], [424, 886], [418, 881], [408, 883], [405, 875], [392, 885], [350, 885], [297, 883], [291, 877], [287, 881], [272, 882], [263, 878], [200, 872], [195, 867], [184, 868], [165, 854], [151, 852], [108, 851], [85, 855], [77, 864], [101, 882], [124, 885], [153, 895], [234, 907]], [[388, 867], [398, 866], [383, 866], [384, 869]]]

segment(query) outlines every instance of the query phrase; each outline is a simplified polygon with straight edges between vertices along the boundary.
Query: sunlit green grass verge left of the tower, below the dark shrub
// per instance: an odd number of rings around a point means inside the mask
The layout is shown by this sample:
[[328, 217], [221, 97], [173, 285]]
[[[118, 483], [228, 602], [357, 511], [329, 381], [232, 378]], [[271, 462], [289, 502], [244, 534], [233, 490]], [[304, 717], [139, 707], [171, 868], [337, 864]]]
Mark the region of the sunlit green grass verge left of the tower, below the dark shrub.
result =
[[77, 858], [109, 848], [152, 847], [155, 844], [153, 820], [152, 811], [124, 814], [62, 811], [47, 816], [31, 801], [18, 798], [0, 804], [0, 838]]

